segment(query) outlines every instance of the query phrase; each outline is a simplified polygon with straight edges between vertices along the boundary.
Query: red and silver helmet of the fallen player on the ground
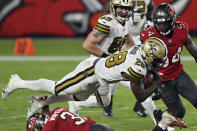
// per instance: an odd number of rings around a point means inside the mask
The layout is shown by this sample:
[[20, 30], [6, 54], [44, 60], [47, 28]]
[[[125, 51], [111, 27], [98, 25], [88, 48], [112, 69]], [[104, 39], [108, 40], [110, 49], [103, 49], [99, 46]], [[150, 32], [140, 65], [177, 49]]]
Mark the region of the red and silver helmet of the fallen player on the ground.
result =
[[32, 115], [27, 121], [27, 131], [42, 131], [45, 124], [45, 115], [36, 113]]

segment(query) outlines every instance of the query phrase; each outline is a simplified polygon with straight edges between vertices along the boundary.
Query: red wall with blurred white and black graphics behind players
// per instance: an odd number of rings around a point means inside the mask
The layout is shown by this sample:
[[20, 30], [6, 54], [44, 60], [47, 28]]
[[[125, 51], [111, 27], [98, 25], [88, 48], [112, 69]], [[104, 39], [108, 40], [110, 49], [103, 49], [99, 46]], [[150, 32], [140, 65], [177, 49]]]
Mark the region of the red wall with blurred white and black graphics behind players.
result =
[[[183, 2], [189, 0], [181, 0]], [[106, 0], [1, 0], [0, 37], [86, 35], [95, 25]], [[154, 0], [179, 4], [180, 20], [197, 31], [197, 1]], [[180, 5], [183, 6], [180, 8]], [[185, 8], [184, 8], [185, 7]]]

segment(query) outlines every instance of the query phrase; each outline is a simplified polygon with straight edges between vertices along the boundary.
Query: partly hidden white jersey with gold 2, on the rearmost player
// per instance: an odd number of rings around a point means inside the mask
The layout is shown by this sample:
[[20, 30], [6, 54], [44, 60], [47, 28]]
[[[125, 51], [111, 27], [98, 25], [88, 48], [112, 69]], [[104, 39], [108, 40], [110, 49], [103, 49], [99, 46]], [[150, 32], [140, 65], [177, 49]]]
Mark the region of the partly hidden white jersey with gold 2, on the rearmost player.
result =
[[151, 0], [133, 0], [134, 12], [133, 12], [133, 26], [131, 28], [132, 36], [137, 36], [140, 31], [144, 29], [146, 22], [146, 14], [148, 12], [148, 5]]

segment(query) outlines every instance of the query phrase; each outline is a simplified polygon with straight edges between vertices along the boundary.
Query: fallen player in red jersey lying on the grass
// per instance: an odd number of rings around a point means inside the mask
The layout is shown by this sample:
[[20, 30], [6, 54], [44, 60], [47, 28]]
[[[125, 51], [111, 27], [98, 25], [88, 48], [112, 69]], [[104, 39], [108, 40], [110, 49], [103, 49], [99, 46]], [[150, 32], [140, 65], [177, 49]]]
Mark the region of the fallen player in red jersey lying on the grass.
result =
[[[48, 96], [39, 99], [45, 100]], [[90, 117], [81, 117], [58, 107], [50, 112], [49, 105], [42, 113], [35, 113], [27, 120], [27, 131], [114, 131], [105, 124], [96, 124]]]

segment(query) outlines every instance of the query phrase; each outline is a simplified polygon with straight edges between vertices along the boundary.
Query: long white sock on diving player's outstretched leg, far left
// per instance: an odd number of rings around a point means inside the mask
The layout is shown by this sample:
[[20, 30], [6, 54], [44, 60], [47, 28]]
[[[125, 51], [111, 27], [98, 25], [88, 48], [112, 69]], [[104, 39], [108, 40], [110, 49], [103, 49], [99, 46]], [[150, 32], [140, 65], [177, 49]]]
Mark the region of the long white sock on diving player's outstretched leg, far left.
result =
[[29, 89], [42, 93], [54, 94], [55, 81], [47, 79], [21, 80], [15, 83], [18, 89]]

